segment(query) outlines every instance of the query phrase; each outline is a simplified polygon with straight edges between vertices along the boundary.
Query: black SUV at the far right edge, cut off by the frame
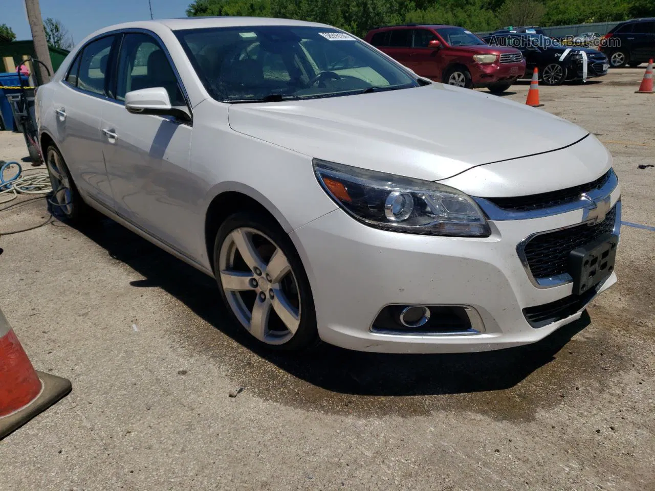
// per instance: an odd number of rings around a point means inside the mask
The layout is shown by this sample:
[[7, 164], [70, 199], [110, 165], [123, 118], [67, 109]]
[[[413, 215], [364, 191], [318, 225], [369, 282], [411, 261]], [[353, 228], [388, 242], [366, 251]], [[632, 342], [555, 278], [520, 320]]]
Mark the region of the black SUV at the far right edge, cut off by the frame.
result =
[[626, 20], [614, 27], [601, 43], [612, 67], [636, 67], [655, 58], [655, 17]]

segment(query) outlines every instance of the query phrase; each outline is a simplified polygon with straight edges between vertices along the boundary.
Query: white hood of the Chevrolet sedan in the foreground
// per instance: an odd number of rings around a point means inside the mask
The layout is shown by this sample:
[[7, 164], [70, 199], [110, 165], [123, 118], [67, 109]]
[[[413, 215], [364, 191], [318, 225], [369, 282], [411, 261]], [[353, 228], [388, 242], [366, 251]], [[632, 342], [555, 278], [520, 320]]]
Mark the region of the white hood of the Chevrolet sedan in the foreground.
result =
[[434, 83], [305, 101], [236, 103], [231, 128], [298, 153], [436, 181], [560, 149], [587, 132], [527, 105]]

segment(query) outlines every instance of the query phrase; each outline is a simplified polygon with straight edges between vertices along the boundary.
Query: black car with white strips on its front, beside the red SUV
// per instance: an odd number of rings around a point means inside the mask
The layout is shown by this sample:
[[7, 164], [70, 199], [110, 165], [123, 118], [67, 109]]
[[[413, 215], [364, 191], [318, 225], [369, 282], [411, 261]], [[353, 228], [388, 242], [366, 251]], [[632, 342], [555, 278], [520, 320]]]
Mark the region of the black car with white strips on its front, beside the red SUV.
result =
[[491, 46], [517, 48], [525, 58], [525, 77], [532, 77], [537, 67], [546, 85], [607, 75], [607, 56], [591, 48], [568, 48], [555, 39], [533, 33], [499, 33], [482, 39]]

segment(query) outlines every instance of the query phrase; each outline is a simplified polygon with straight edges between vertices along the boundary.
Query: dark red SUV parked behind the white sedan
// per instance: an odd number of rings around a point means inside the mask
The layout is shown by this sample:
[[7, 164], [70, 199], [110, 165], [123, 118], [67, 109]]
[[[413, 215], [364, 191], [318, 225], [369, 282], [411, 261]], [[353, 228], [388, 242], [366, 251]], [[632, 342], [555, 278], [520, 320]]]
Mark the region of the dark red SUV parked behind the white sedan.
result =
[[455, 26], [379, 27], [365, 40], [417, 75], [436, 82], [504, 92], [525, 72], [515, 48], [491, 47], [471, 31]]

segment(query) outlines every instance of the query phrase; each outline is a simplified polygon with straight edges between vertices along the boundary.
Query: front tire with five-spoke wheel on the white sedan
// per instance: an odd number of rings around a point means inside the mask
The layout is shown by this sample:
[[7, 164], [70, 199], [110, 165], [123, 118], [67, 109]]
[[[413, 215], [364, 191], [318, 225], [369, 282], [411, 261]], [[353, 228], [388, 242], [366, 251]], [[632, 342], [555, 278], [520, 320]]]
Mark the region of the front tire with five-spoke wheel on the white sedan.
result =
[[318, 344], [307, 273], [273, 219], [230, 215], [216, 234], [214, 275], [229, 315], [260, 346], [299, 352]]

